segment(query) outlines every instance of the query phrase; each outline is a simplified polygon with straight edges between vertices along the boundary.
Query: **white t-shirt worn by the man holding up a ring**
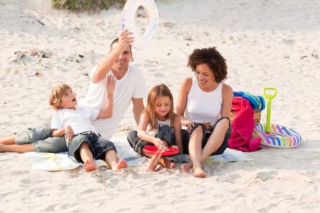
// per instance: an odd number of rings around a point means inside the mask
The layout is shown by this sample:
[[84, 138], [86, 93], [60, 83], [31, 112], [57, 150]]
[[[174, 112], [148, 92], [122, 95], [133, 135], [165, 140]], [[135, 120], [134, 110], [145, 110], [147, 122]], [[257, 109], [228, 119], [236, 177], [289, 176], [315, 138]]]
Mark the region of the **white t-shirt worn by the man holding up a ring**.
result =
[[[91, 71], [91, 78], [96, 71], [95, 66]], [[90, 86], [85, 98], [80, 99], [80, 104], [104, 110], [107, 102], [107, 76], [113, 75], [112, 71], [106, 75], [105, 79], [99, 83], [90, 81]], [[148, 94], [147, 85], [143, 72], [138, 67], [129, 65], [126, 74], [116, 80], [116, 88], [113, 93], [113, 113], [109, 119], [93, 120], [92, 124], [102, 137], [110, 140], [117, 130], [124, 114], [126, 113], [132, 98], [146, 98]]]

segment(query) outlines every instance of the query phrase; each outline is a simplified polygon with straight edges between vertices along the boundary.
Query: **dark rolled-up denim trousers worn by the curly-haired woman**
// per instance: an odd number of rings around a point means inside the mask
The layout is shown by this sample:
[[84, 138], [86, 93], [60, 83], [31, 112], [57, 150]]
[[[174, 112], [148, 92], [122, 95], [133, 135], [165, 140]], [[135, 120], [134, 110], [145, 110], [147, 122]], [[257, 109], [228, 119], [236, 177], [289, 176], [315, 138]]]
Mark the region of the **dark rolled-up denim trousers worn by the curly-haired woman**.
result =
[[211, 136], [212, 131], [215, 129], [216, 125], [218, 124], [219, 121], [221, 121], [222, 119], [228, 119], [229, 120], [229, 128], [227, 129], [225, 135], [224, 135], [224, 139], [223, 142], [221, 144], [221, 146], [217, 149], [217, 151], [215, 151], [214, 153], [212, 153], [211, 155], [220, 155], [224, 152], [224, 150], [227, 148], [228, 146], [228, 139], [231, 135], [231, 122], [230, 119], [228, 117], [221, 117], [220, 119], [218, 119], [216, 121], [216, 123], [213, 125], [213, 127], [211, 128], [211, 132], [206, 133], [204, 131], [204, 126], [201, 123], [195, 123], [194, 127], [192, 128], [191, 132], [188, 133], [187, 130], [182, 129], [182, 143], [184, 145], [184, 151], [182, 154], [189, 154], [189, 140], [190, 140], [190, 136], [193, 133], [193, 131], [195, 130], [195, 128], [199, 125], [203, 126], [203, 139], [202, 139], [202, 149], [205, 146], [205, 144], [207, 144], [207, 141], [209, 139], [209, 137]]

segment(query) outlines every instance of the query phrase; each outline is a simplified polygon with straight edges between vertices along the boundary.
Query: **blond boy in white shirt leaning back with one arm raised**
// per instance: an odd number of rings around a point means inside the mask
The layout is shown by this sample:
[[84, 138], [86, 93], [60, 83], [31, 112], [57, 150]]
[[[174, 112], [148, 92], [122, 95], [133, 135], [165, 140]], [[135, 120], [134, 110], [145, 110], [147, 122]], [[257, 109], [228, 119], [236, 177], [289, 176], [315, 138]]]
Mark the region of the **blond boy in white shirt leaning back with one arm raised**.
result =
[[53, 88], [49, 103], [55, 110], [51, 121], [52, 137], [65, 135], [70, 155], [84, 163], [84, 170], [99, 170], [94, 158], [105, 160], [112, 170], [127, 168], [124, 159], [118, 161], [116, 147], [102, 138], [90, 119], [102, 119], [112, 116], [113, 91], [116, 79], [107, 77], [107, 102], [104, 110], [79, 106], [76, 94], [66, 84]]

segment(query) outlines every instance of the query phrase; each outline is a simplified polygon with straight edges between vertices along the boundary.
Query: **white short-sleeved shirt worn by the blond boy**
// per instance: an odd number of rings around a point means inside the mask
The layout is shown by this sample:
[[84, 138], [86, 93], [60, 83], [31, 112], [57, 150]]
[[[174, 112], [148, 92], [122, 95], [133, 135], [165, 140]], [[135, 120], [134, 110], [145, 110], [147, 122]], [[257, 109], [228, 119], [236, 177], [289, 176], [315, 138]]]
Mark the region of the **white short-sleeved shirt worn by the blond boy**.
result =
[[94, 131], [97, 129], [91, 124], [92, 119], [97, 119], [99, 110], [85, 106], [76, 106], [73, 109], [59, 109], [53, 113], [51, 120], [51, 129], [61, 129], [65, 126], [71, 126], [74, 135], [85, 131]]

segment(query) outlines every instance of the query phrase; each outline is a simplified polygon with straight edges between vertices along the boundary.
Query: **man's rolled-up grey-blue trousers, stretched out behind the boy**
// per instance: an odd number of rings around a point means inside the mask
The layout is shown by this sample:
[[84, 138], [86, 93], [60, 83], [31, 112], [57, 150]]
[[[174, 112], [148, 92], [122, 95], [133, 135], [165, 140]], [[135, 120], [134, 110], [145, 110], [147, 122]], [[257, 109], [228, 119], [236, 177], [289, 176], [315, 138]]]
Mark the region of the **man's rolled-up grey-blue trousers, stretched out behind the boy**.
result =
[[50, 128], [52, 116], [44, 120], [40, 127], [28, 128], [16, 132], [16, 144], [32, 143], [35, 152], [64, 152], [67, 151], [65, 138], [51, 137], [52, 131]]

